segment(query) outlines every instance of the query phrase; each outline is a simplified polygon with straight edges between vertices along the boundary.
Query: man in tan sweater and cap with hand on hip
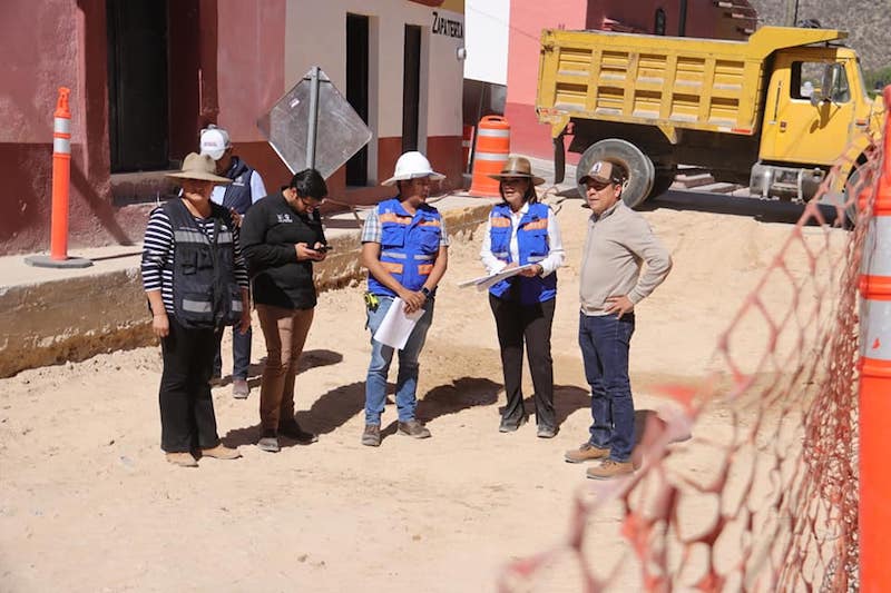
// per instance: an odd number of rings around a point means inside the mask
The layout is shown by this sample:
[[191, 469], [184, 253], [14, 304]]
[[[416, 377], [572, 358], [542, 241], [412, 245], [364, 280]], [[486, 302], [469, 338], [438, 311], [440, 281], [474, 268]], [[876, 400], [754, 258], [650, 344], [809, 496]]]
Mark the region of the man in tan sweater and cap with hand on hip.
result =
[[[578, 342], [591, 388], [589, 439], [566, 452], [569, 463], [600, 459], [588, 477], [608, 480], [634, 472], [634, 401], [628, 350], [634, 307], [665, 280], [672, 257], [643, 216], [621, 201], [625, 169], [600, 160], [578, 180], [591, 208], [581, 260]], [[642, 274], [643, 264], [646, 269]]]

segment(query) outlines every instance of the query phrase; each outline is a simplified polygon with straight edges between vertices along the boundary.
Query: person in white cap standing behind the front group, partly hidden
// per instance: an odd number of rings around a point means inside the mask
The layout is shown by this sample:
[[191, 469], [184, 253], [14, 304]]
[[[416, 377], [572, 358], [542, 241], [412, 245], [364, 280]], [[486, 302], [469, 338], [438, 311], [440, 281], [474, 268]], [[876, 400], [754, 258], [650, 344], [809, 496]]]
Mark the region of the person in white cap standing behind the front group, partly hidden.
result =
[[[260, 172], [233, 154], [229, 135], [223, 128], [210, 123], [202, 130], [200, 154], [208, 155], [216, 161], [216, 172], [232, 180], [227, 186], [214, 187], [210, 201], [228, 208], [241, 223], [251, 206], [266, 196], [266, 187]], [[222, 334], [221, 334], [222, 337]], [[251, 365], [251, 328], [246, 334], [232, 333], [232, 395], [239, 399], [247, 397], [251, 388], [247, 385], [247, 370]], [[219, 346], [214, 358], [214, 379], [223, 374], [223, 357]]]

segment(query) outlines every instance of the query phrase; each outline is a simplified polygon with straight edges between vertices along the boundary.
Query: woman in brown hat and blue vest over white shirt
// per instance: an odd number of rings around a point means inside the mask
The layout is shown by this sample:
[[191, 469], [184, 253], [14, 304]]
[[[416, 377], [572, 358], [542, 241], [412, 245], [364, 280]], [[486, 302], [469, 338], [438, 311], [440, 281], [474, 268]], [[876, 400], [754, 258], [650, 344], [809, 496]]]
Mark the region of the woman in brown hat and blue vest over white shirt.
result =
[[480, 258], [489, 274], [523, 267], [516, 276], [489, 289], [489, 305], [498, 328], [507, 405], [499, 431], [511, 433], [528, 416], [522, 403], [522, 353], [526, 343], [535, 387], [538, 436], [557, 434], [554, 412], [554, 364], [550, 330], [557, 297], [556, 269], [564, 263], [560, 230], [551, 209], [538, 201], [529, 160], [511, 156], [499, 175], [502, 201], [492, 207]]

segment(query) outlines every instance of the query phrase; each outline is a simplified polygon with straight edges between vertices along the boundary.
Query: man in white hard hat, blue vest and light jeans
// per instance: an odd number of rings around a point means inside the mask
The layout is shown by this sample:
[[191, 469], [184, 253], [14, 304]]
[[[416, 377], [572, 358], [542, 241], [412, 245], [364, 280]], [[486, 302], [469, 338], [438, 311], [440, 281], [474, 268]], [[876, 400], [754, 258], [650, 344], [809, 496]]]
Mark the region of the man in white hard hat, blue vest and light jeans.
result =
[[418, 151], [396, 161], [393, 177], [383, 185], [399, 195], [380, 202], [362, 229], [362, 264], [369, 269], [365, 295], [371, 330], [371, 364], [365, 380], [365, 429], [362, 444], [381, 444], [381, 414], [386, 399], [386, 376], [393, 348], [374, 339], [386, 312], [399, 298], [407, 314], [423, 310], [405, 346], [399, 353], [396, 409], [399, 433], [427, 438], [430, 431], [418, 421], [418, 357], [433, 320], [433, 300], [448, 265], [449, 236], [439, 210], [427, 204], [432, 181], [444, 179]]

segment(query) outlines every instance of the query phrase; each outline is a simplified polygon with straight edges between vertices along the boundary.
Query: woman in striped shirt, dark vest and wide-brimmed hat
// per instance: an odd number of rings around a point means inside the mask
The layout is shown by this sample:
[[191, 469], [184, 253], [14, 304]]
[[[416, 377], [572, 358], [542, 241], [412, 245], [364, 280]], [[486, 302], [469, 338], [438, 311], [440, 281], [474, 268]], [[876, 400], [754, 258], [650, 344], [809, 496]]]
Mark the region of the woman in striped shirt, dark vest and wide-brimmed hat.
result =
[[216, 184], [210, 157], [190, 154], [170, 174], [179, 197], [156, 208], [143, 248], [143, 287], [160, 338], [164, 372], [159, 404], [161, 449], [167, 461], [197, 466], [196, 457], [235, 459], [241, 454], [219, 442], [210, 397], [217, 334], [226, 325], [251, 326], [247, 269], [238, 247], [237, 223], [210, 202]]

